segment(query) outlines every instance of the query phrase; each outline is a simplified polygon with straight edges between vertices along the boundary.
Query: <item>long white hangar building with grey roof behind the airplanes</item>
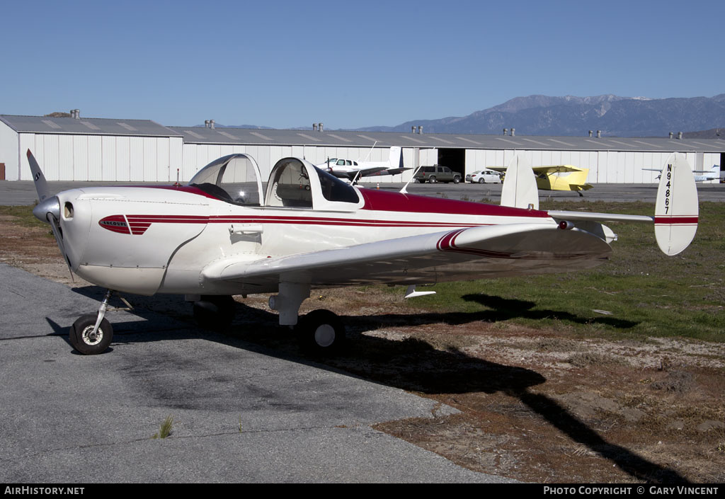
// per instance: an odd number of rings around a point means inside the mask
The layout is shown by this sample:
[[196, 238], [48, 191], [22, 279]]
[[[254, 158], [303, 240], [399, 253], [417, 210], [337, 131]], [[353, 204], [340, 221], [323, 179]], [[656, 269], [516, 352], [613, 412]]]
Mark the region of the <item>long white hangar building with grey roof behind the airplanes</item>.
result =
[[[78, 116], [78, 114], [76, 114]], [[251, 154], [268, 176], [283, 157], [315, 164], [330, 157], [386, 161], [402, 147], [406, 167], [445, 165], [460, 173], [503, 166], [515, 154], [531, 165], [589, 168], [590, 183], [650, 183], [669, 154], [682, 152], [695, 170], [725, 171], [725, 141], [715, 139], [512, 136], [449, 133], [268, 130], [162, 126], [151, 120], [0, 115], [0, 179], [30, 180], [30, 149], [49, 181], [188, 181], [218, 157]], [[397, 176], [371, 182], [407, 181]]]

